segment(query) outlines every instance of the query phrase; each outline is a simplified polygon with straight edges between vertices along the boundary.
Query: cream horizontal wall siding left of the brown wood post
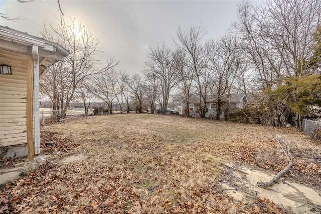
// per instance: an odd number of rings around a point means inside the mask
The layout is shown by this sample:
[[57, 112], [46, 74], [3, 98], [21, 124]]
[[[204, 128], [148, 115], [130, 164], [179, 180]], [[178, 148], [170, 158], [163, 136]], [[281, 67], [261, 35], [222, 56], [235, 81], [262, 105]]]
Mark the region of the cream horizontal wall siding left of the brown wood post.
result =
[[0, 146], [27, 143], [27, 55], [0, 49], [0, 64], [12, 75], [0, 74]]

